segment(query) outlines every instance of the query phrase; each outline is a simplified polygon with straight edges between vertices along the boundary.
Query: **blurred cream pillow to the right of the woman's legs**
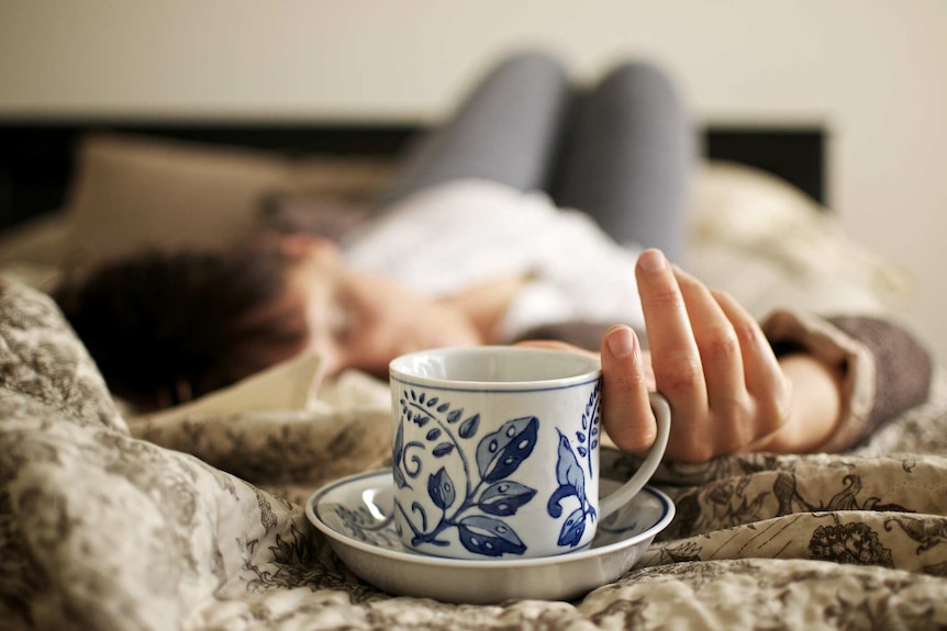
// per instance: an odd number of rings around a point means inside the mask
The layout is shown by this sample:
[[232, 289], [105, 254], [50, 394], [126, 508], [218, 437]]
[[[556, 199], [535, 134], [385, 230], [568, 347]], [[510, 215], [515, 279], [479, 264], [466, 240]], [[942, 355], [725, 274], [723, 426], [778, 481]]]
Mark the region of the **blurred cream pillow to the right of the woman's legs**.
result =
[[686, 267], [757, 318], [788, 304], [884, 313], [910, 294], [905, 272], [846, 237], [837, 215], [751, 167], [703, 164], [688, 224]]

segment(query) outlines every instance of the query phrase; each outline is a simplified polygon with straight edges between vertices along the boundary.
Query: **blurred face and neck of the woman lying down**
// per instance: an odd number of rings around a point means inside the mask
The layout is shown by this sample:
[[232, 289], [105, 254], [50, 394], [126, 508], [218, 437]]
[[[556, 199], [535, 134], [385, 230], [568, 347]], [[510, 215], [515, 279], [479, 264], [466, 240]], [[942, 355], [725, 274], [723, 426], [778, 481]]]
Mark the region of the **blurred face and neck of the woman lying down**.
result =
[[459, 309], [349, 271], [327, 243], [310, 241], [288, 288], [305, 314], [304, 350], [319, 353], [330, 375], [355, 368], [387, 378], [389, 362], [400, 354], [482, 341]]

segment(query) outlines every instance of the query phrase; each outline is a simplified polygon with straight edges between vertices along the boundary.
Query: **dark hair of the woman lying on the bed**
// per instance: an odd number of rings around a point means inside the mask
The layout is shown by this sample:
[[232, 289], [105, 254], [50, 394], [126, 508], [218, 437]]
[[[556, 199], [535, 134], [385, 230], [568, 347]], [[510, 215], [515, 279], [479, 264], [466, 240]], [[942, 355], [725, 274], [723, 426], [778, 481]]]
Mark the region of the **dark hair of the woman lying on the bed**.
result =
[[281, 308], [289, 259], [275, 250], [147, 252], [55, 293], [116, 396], [146, 409], [230, 385], [305, 338]]

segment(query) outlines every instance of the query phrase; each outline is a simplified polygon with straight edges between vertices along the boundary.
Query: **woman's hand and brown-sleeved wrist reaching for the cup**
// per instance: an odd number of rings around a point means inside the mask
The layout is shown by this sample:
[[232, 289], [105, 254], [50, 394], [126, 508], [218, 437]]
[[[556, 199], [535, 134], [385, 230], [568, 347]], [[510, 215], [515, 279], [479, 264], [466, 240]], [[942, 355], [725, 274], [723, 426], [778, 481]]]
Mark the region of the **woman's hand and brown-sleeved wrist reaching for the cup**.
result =
[[625, 451], [654, 440], [648, 390], [671, 405], [667, 457], [680, 461], [838, 451], [926, 399], [929, 357], [894, 325], [780, 312], [760, 327], [656, 250], [642, 255], [636, 278], [649, 351], [621, 325], [601, 346], [603, 422]]

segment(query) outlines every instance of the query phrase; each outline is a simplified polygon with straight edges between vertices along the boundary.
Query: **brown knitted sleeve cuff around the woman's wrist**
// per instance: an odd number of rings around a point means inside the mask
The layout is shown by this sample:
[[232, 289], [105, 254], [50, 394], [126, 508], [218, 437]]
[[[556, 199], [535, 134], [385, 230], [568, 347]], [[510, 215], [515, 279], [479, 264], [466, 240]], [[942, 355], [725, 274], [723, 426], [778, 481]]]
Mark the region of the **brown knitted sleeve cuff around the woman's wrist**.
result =
[[872, 317], [822, 318], [780, 309], [762, 323], [778, 354], [803, 350], [843, 374], [842, 418], [821, 447], [855, 447], [898, 413], [927, 398], [932, 362], [906, 331]]

